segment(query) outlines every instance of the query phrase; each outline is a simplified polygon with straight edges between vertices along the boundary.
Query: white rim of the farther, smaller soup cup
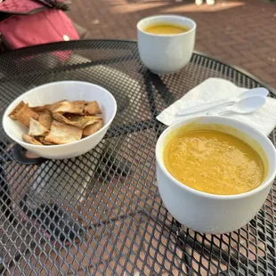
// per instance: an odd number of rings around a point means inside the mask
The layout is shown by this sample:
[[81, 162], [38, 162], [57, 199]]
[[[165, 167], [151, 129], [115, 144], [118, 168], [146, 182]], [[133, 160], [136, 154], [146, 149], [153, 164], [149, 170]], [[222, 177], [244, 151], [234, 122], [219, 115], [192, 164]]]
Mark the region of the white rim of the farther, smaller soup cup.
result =
[[[141, 24], [143, 23], [143, 21], [146, 20], [150, 20], [150, 19], [156, 19], [156, 18], [167, 18], [167, 17], [175, 17], [175, 18], [179, 18], [181, 20], [188, 20], [192, 23], [193, 27], [190, 28], [188, 31], [183, 32], [181, 34], [175, 34], [175, 35], [155, 35], [155, 34], [150, 34], [145, 32], [142, 27]], [[139, 30], [140, 32], [142, 32], [142, 34], [148, 35], [150, 37], [182, 37], [182, 36], [186, 36], [188, 34], [190, 34], [191, 32], [195, 31], [197, 28], [197, 23], [195, 20], [192, 20], [191, 18], [187, 17], [187, 16], [183, 16], [183, 15], [175, 15], [175, 14], [160, 14], [160, 15], [151, 15], [151, 16], [147, 16], [142, 18], [142, 20], [139, 20], [136, 24], [136, 28], [137, 30]]]

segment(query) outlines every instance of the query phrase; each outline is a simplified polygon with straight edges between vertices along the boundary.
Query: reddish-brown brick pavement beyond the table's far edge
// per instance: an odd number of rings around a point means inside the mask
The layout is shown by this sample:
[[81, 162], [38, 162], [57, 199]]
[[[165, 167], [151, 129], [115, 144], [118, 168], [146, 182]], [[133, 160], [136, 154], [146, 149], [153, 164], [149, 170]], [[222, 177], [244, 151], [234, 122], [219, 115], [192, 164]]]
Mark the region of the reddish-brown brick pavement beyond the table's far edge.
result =
[[183, 14], [198, 24], [196, 50], [248, 70], [276, 88], [276, 3], [217, 0], [75, 0], [70, 18], [89, 29], [87, 38], [135, 39], [136, 23], [159, 13]]

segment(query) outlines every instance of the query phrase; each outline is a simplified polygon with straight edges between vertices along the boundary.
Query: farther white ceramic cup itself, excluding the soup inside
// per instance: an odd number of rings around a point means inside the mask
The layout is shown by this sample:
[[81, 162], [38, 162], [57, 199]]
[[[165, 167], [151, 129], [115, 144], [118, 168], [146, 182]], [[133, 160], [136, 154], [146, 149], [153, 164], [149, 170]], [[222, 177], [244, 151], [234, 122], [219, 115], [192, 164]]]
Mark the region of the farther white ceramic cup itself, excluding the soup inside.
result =
[[[189, 28], [178, 35], [153, 35], [145, 28], [158, 23], [171, 23]], [[137, 23], [138, 49], [142, 63], [156, 74], [170, 74], [183, 69], [191, 60], [197, 25], [195, 21], [178, 15], [157, 15]]]

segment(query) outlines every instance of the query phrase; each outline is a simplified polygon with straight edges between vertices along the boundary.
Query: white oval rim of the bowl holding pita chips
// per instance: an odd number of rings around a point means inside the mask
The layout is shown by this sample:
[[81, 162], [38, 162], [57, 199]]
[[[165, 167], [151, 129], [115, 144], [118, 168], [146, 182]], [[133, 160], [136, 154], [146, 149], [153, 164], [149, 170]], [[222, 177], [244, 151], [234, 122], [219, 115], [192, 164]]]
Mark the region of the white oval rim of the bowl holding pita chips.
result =
[[[114, 103], [114, 112], [110, 118], [110, 120], [108, 122], [104, 122], [104, 126], [101, 127], [100, 130], [98, 130], [97, 132], [95, 132], [94, 134], [92, 135], [89, 135], [85, 138], [82, 138], [81, 140], [78, 140], [78, 141], [74, 141], [74, 142], [69, 142], [69, 143], [64, 143], [64, 144], [59, 144], [59, 145], [34, 145], [34, 144], [31, 144], [31, 143], [28, 143], [28, 142], [24, 142], [24, 141], [21, 141], [15, 137], [12, 136], [12, 134], [10, 133], [10, 131], [7, 129], [7, 127], [5, 126], [4, 124], [4, 120], [5, 118], [8, 116], [8, 111], [11, 109], [12, 106], [16, 106], [17, 103], [19, 103], [19, 101], [24, 97], [26, 96], [28, 93], [32, 93], [34, 91], [39, 91], [39, 89], [45, 87], [45, 86], [52, 86], [52, 85], [61, 85], [61, 84], [81, 84], [81, 85], [90, 85], [90, 86], [93, 86], [93, 87], [96, 87], [96, 88], [100, 88], [101, 90], [104, 90], [105, 93], [108, 93], [111, 97], [111, 100], [113, 101]], [[117, 113], [117, 101], [115, 100], [114, 96], [107, 90], [105, 89], [104, 87], [100, 86], [100, 85], [94, 85], [93, 83], [89, 83], [89, 82], [85, 82], [85, 81], [78, 81], [78, 80], [62, 80], [62, 81], [56, 81], [56, 82], [51, 82], [51, 83], [47, 83], [45, 85], [38, 85], [32, 89], [29, 89], [27, 92], [25, 93], [21, 93], [20, 96], [18, 96], [16, 99], [14, 99], [8, 106], [7, 108], [4, 110], [4, 115], [3, 115], [3, 118], [2, 118], [2, 126], [4, 128], [4, 132], [5, 134], [7, 134], [14, 142], [17, 142], [19, 144], [22, 144], [22, 146], [26, 145], [28, 146], [30, 149], [56, 149], [56, 148], [65, 148], [65, 147], [68, 147], [69, 145], [76, 145], [77, 143], [79, 142], [83, 142], [85, 140], [89, 140], [89, 139], [92, 139], [93, 136], [95, 134], [101, 134], [101, 132], [103, 132], [107, 127], [109, 127], [110, 123], [113, 121], [113, 119], [115, 118], [116, 116], [116, 113]]]

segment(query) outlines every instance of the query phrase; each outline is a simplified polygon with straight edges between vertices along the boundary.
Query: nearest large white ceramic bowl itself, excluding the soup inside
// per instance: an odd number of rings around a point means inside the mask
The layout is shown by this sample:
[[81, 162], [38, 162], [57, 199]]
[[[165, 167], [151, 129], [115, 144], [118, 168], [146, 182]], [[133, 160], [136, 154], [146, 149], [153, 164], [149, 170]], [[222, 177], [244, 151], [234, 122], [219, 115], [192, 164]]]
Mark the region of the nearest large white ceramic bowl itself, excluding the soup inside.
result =
[[[238, 195], [214, 195], [196, 191], [170, 175], [163, 162], [163, 150], [177, 130], [184, 126], [197, 128], [220, 125], [255, 149], [267, 166], [264, 182], [252, 191]], [[276, 153], [270, 140], [256, 129], [232, 118], [207, 116], [185, 118], [169, 126], [160, 135], [156, 146], [158, 190], [167, 210], [180, 223], [203, 233], [235, 231], [247, 224], [263, 206], [276, 175]]]

